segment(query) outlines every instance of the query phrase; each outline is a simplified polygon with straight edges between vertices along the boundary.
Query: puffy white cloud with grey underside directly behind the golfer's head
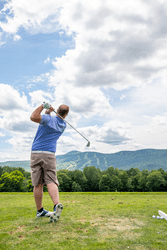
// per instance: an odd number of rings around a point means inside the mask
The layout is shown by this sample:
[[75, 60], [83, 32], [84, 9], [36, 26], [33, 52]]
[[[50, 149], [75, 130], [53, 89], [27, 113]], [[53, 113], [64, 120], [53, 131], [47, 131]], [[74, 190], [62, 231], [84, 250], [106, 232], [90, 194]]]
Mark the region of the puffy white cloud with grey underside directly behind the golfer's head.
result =
[[65, 103], [73, 112], [82, 114], [87, 118], [97, 114], [107, 116], [112, 113], [109, 100], [98, 88], [77, 88], [58, 84], [56, 85], [55, 99], [57, 103]]

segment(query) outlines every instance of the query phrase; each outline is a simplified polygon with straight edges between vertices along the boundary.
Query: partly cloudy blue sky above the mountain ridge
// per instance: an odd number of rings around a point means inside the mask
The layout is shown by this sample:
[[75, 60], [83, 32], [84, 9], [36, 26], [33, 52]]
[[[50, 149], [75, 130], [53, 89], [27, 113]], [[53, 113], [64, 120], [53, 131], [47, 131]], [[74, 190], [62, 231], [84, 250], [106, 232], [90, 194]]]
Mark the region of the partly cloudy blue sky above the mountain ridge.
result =
[[0, 161], [30, 159], [44, 101], [91, 143], [67, 125], [56, 155], [166, 149], [166, 20], [165, 0], [0, 0]]

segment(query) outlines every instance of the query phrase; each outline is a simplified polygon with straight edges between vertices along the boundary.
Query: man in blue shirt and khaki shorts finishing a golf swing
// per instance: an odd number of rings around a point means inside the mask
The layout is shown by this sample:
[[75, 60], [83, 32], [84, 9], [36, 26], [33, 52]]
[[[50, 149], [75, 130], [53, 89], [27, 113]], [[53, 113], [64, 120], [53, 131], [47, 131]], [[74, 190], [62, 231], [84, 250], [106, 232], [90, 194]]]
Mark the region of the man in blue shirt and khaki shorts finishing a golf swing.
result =
[[[41, 115], [43, 109], [47, 109]], [[69, 112], [67, 105], [57, 109], [56, 116], [50, 113], [54, 110], [48, 103], [40, 105], [34, 110], [30, 119], [39, 123], [39, 127], [32, 144], [31, 151], [31, 179], [34, 186], [34, 199], [37, 207], [36, 217], [50, 217], [50, 221], [57, 221], [61, 215], [63, 204], [59, 203], [59, 182], [56, 173], [56, 146], [57, 140], [66, 128], [63, 120]], [[63, 118], [61, 119], [59, 115]], [[54, 212], [45, 210], [42, 206], [43, 185], [47, 185], [49, 195], [54, 204]]]

